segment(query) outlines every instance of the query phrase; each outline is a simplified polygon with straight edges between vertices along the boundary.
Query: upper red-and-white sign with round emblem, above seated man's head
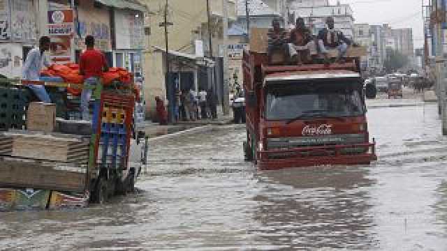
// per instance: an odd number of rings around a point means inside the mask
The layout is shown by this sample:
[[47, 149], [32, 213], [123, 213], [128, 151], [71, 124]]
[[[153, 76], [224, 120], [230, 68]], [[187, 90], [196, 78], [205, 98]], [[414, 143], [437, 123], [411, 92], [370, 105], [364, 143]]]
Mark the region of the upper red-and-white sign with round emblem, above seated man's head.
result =
[[73, 34], [73, 10], [48, 11], [48, 34], [61, 36]]

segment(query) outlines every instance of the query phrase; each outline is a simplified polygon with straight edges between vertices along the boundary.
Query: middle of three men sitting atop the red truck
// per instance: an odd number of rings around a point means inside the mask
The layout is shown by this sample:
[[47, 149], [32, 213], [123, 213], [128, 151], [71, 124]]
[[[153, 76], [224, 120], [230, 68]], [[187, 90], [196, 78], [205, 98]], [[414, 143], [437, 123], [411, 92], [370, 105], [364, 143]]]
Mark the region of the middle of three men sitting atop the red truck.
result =
[[307, 29], [305, 20], [302, 17], [297, 18], [295, 29], [291, 31], [288, 42], [291, 43], [292, 50], [295, 50], [293, 61], [297, 62], [298, 65], [300, 65], [302, 61], [311, 60], [310, 54], [315, 51], [315, 43], [312, 38], [312, 33]]

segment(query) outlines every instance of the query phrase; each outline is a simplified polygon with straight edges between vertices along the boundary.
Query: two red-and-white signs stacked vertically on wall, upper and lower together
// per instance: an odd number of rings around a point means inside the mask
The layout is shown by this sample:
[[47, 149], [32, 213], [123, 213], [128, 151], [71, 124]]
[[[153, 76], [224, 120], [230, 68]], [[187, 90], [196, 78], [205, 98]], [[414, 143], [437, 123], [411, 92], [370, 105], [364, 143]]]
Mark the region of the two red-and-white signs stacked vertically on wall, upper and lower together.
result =
[[53, 62], [71, 60], [71, 36], [73, 36], [73, 10], [48, 11], [48, 34], [50, 35], [50, 58]]

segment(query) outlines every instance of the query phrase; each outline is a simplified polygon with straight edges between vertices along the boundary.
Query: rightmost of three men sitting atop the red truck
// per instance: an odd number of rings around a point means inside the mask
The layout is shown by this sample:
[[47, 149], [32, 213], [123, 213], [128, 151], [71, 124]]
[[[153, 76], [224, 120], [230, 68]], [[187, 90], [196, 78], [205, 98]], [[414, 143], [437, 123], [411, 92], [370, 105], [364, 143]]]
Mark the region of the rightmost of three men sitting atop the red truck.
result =
[[326, 19], [328, 28], [322, 29], [318, 32], [318, 47], [321, 53], [323, 53], [325, 60], [328, 61], [328, 48], [337, 48], [339, 55], [337, 61], [342, 61], [346, 56], [348, 45], [351, 45], [351, 40], [344, 36], [342, 31], [335, 29], [334, 17], [328, 17]]

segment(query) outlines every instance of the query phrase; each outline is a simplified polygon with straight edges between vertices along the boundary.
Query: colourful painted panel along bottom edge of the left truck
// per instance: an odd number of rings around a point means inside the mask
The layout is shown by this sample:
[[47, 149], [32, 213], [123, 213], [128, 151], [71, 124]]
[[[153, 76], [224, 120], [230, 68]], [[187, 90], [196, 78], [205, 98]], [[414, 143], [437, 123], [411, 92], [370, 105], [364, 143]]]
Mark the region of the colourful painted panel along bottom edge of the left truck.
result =
[[84, 208], [89, 192], [0, 188], [0, 212]]

